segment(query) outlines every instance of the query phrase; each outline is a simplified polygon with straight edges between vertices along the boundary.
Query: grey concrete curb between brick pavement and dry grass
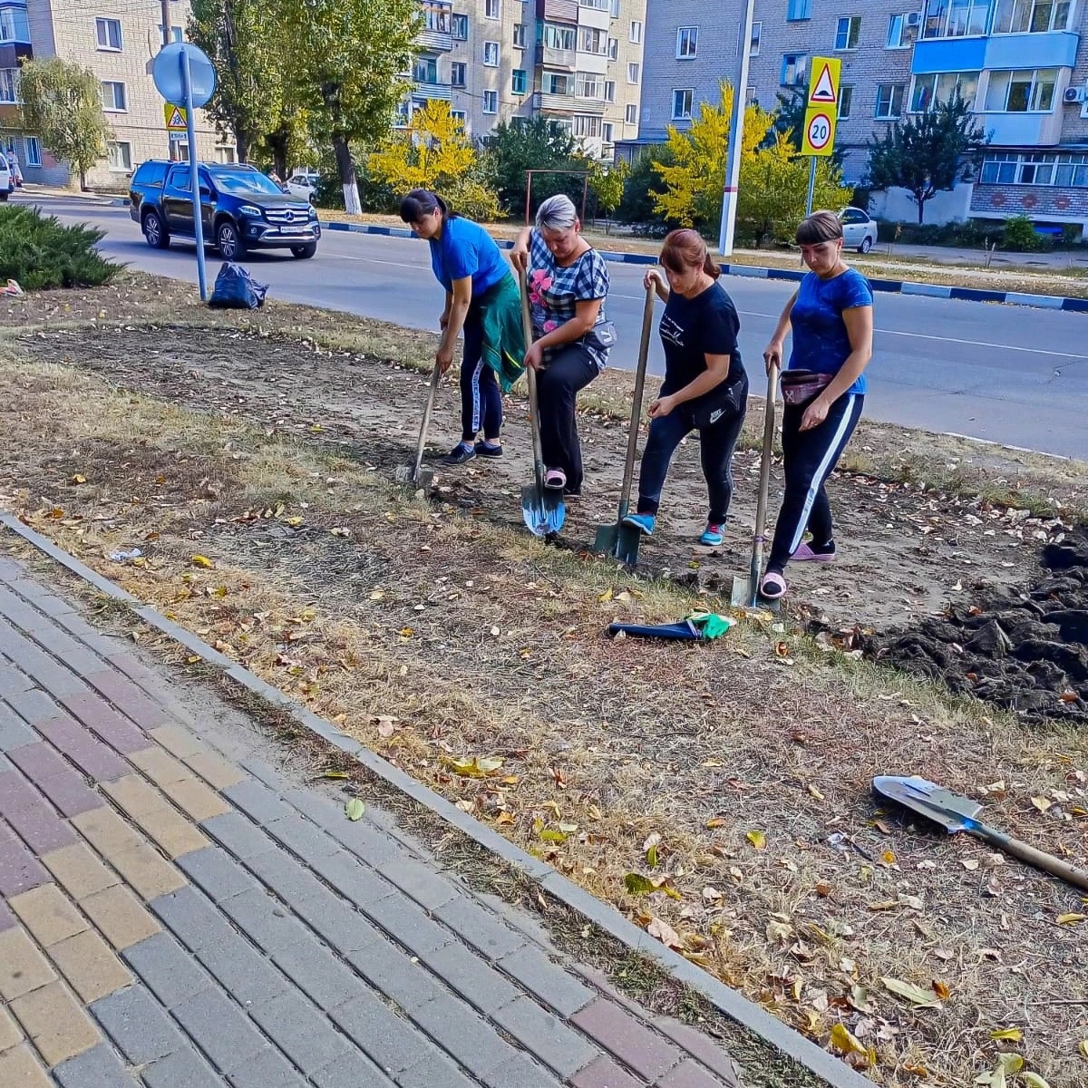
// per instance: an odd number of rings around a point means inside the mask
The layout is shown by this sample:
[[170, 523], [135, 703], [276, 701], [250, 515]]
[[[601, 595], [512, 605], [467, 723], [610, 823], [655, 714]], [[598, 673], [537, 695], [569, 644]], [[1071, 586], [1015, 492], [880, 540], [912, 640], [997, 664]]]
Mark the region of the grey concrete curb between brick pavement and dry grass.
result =
[[79, 562], [67, 552], [57, 547], [50, 540], [35, 532], [18, 518], [10, 514], [0, 514], [0, 524], [5, 526], [24, 541], [38, 548], [45, 555], [65, 567], [73, 574], [89, 582], [100, 593], [116, 601], [132, 605], [133, 611], [144, 622], [156, 628], [168, 638], [180, 642], [193, 654], [201, 657], [210, 665], [223, 669], [232, 680], [259, 695], [261, 698], [281, 707], [305, 729], [320, 737], [323, 741], [335, 745], [345, 754], [357, 759], [375, 777], [387, 786], [411, 798], [412, 801], [428, 808], [445, 823], [453, 825], [463, 834], [479, 843], [485, 850], [497, 854], [507, 864], [520, 869], [530, 879], [536, 881], [548, 894], [559, 902], [583, 915], [589, 922], [604, 930], [614, 939], [620, 941], [632, 951], [655, 961], [659, 967], [672, 978], [691, 987], [706, 998], [720, 1013], [737, 1024], [746, 1028], [753, 1035], [763, 1039], [776, 1050], [804, 1066], [815, 1077], [831, 1088], [873, 1088], [873, 1081], [855, 1073], [844, 1062], [839, 1061], [816, 1043], [788, 1027], [770, 1013], [761, 1009], [747, 998], [731, 990], [724, 982], [701, 970], [679, 953], [666, 948], [659, 941], [638, 926], [628, 922], [618, 911], [590, 895], [566, 877], [561, 876], [551, 865], [526, 853], [504, 839], [490, 827], [473, 819], [450, 804], [445, 798], [428, 789], [410, 775], [405, 774], [381, 756], [364, 747], [358, 741], [342, 733], [331, 722], [288, 698], [277, 688], [265, 683], [260, 677], [243, 668], [237, 662], [218, 653], [188, 631], [166, 619], [149, 605], [140, 605], [131, 593], [114, 585], [108, 579], [95, 573]]

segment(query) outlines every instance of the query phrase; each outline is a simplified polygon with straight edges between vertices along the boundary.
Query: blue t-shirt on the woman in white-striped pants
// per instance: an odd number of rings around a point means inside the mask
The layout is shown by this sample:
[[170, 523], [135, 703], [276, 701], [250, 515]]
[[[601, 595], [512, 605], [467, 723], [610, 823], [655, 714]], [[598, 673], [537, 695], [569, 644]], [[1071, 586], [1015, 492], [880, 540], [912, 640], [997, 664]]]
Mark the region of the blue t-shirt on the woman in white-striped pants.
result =
[[[833, 280], [821, 280], [809, 272], [801, 281], [790, 312], [793, 350], [787, 369], [838, 374], [852, 350], [842, 311], [871, 305], [873, 288], [861, 272], [846, 269]], [[863, 373], [846, 392], [865, 393], [867, 388]]]

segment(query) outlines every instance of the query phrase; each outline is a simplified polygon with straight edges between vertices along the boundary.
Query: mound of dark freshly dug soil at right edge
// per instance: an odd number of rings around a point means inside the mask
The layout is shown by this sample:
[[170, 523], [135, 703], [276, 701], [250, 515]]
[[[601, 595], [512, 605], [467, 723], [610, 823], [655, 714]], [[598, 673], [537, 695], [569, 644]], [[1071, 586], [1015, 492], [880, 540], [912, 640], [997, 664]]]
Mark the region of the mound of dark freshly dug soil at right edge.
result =
[[952, 606], [869, 653], [1026, 719], [1088, 722], [1088, 531], [1048, 544], [1041, 565], [1046, 577], [1027, 592]]

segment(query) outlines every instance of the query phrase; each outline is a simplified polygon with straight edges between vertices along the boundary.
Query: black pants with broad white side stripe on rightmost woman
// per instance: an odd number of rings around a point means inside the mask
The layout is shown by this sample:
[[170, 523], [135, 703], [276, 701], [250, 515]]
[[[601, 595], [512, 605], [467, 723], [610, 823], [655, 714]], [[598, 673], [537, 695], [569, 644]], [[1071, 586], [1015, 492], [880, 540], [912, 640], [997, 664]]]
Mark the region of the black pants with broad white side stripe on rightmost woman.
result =
[[782, 415], [786, 496], [775, 523], [768, 570], [779, 573], [786, 570], [806, 529], [817, 547], [831, 543], [831, 504], [824, 485], [857, 426], [864, 403], [865, 397], [858, 393], [839, 397], [831, 405], [827, 419], [811, 431], [801, 430], [801, 419], [808, 405], [786, 406]]

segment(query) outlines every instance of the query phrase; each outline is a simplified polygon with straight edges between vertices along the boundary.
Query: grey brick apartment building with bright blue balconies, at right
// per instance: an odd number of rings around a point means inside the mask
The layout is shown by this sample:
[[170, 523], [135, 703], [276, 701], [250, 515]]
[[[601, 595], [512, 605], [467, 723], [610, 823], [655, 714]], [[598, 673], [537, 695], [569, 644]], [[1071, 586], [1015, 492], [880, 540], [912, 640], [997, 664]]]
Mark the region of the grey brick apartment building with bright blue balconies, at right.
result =
[[[650, 0], [642, 119], [630, 154], [684, 128], [737, 79], [744, 0]], [[813, 57], [842, 60], [837, 147], [848, 182], [898, 120], [959, 92], [991, 148], [976, 181], [927, 205], [930, 222], [1023, 213], [1088, 225], [1088, 0], [755, 0], [746, 96], [765, 109], [803, 88]], [[902, 193], [874, 211], [912, 219]]]

